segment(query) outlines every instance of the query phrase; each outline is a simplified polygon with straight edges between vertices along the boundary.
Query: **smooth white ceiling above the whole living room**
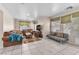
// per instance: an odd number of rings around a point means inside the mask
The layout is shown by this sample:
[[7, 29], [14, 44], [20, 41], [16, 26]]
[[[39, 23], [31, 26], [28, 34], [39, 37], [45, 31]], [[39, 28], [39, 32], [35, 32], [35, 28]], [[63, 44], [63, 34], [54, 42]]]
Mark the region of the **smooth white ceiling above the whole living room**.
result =
[[78, 3], [2, 3], [14, 18], [32, 19], [39, 16], [55, 16], [67, 7], [79, 8]]

